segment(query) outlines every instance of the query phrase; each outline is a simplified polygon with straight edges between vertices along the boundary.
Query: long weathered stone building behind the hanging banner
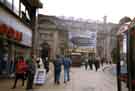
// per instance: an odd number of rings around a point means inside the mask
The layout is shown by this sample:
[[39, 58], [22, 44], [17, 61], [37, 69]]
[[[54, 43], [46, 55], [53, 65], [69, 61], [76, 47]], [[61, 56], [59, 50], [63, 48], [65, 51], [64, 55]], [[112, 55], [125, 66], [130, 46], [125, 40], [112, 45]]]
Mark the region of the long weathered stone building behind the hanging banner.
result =
[[[91, 49], [88, 48], [85, 52], [96, 52], [97, 56], [107, 57], [107, 59], [111, 60], [111, 46], [115, 45], [111, 44], [112, 35], [111, 34], [117, 26], [117, 24], [113, 23], [105, 23], [105, 22], [97, 22], [92, 20], [77, 20], [65, 17], [55, 17], [55, 16], [45, 16], [39, 15], [39, 39], [38, 48], [41, 49], [41, 44], [43, 42], [47, 42], [51, 48], [51, 57], [54, 58], [56, 53], [61, 53], [62, 50], [74, 49], [75, 50], [83, 50], [80, 49], [80, 45], [76, 45], [73, 47], [69, 46], [69, 32], [96, 32], [96, 47]], [[78, 39], [79, 40], [79, 39]], [[60, 43], [61, 42], [61, 43]], [[39, 47], [40, 46], [40, 47]], [[74, 48], [75, 47], [75, 48]], [[76, 48], [77, 47], [77, 48]], [[39, 50], [38, 49], [38, 50]], [[88, 51], [89, 50], [89, 51]]]

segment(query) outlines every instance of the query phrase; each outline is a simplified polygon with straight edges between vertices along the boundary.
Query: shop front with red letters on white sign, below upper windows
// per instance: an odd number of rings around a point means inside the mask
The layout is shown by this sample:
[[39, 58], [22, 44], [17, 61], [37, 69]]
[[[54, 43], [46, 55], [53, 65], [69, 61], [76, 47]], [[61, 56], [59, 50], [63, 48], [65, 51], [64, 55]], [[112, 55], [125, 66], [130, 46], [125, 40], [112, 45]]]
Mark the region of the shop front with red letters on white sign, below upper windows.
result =
[[16, 57], [30, 53], [32, 31], [1, 7], [0, 12], [0, 77], [9, 77], [15, 72]]

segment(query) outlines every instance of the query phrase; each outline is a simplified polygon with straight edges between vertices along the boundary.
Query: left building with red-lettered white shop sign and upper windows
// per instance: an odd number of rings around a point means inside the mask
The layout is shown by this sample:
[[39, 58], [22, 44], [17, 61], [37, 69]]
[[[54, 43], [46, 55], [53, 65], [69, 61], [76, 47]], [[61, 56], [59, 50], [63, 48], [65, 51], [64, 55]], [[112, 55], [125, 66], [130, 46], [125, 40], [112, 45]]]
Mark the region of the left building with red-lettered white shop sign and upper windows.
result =
[[30, 54], [32, 47], [32, 9], [26, 0], [0, 0], [0, 76], [15, 72], [17, 56]]

